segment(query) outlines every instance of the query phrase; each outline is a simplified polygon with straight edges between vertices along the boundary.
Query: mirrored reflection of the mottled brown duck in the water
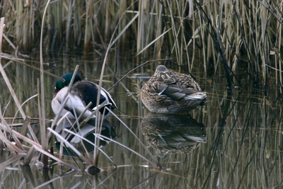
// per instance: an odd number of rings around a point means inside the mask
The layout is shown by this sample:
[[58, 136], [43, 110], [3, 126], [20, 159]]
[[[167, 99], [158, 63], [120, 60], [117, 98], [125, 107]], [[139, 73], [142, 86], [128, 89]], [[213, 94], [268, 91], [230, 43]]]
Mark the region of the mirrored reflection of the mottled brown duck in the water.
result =
[[141, 132], [160, 157], [187, 154], [206, 142], [202, 123], [180, 115], [149, 115], [141, 120]]

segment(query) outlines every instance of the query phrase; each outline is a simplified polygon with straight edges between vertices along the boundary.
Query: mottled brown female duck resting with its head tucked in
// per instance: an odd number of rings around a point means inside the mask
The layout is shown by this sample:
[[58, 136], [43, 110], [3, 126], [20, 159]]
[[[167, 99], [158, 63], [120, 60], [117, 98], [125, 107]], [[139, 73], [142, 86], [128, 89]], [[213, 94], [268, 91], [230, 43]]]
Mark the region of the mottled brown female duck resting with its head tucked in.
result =
[[207, 93], [191, 76], [160, 65], [142, 86], [141, 101], [154, 113], [184, 113], [207, 103]]

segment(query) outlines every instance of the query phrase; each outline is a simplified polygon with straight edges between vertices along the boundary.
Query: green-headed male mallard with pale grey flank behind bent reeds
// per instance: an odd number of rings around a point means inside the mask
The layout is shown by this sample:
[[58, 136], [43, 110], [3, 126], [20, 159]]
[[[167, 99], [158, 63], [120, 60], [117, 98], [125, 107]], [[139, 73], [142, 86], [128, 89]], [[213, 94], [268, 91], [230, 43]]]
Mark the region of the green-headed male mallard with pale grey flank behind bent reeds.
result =
[[[68, 91], [68, 86], [71, 82], [71, 77], [73, 76], [73, 73], [64, 74], [62, 76], [65, 81], [57, 80], [55, 90], [53, 93], [53, 100], [52, 100], [52, 110], [53, 112], [58, 115], [61, 103], [64, 102], [64, 96], [66, 95]], [[86, 105], [88, 103], [92, 103], [90, 108], [86, 110], [85, 113], [81, 116], [80, 120], [84, 120], [88, 118], [88, 115], [90, 115], [93, 110], [96, 110], [96, 103], [98, 101], [98, 85], [94, 84], [90, 81], [82, 80], [79, 75], [76, 74], [74, 78], [74, 83], [71, 86], [71, 89], [69, 91], [68, 95], [68, 101], [64, 105], [64, 109], [62, 110], [62, 113], [60, 116], [65, 115], [69, 112], [69, 115], [67, 115], [67, 118], [69, 119], [75, 119], [81, 115], [83, 110], [86, 109]], [[110, 94], [104, 89], [101, 88], [100, 90], [100, 98], [99, 98], [99, 104], [103, 103], [104, 101], [108, 101], [103, 108], [101, 108], [99, 111], [100, 113], [103, 113], [104, 107], [107, 106], [108, 108], [117, 108], [115, 102], [112, 100]], [[110, 112], [105, 109], [105, 119], [110, 116]], [[93, 115], [92, 118], [96, 118], [95, 115]]]

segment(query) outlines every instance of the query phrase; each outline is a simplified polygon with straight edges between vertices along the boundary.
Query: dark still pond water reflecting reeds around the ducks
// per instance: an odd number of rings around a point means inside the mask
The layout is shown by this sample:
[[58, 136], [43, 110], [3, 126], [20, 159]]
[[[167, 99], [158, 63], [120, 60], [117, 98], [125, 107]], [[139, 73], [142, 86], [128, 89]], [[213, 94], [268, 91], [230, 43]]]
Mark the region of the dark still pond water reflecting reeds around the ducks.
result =
[[[74, 71], [79, 64], [79, 74], [98, 83], [102, 61], [96, 58], [95, 55], [45, 57], [48, 62], [45, 70], [61, 76]], [[36, 62], [30, 64], [39, 67]], [[110, 57], [107, 64], [116, 71], [118, 78], [135, 67], [130, 57], [120, 57], [118, 64]], [[155, 67], [156, 64], [146, 65], [130, 76], [150, 76]], [[5, 71], [21, 103], [37, 93], [38, 71], [16, 63], [9, 64]], [[119, 84], [110, 91], [117, 107], [126, 115], [114, 113], [137, 136], [111, 115], [108, 124], [115, 132], [115, 141], [151, 163], [115, 142], [105, 142], [101, 149], [117, 168], [100, 153], [98, 167], [103, 171], [91, 176], [83, 171], [88, 165], [78, 157], [64, 156], [64, 161], [82, 170], [71, 171], [52, 161], [50, 168], [40, 168], [37, 166], [38, 153], [30, 166], [21, 166], [18, 154], [3, 150], [0, 155], [1, 185], [4, 188], [281, 188], [282, 105], [273, 92], [276, 88], [270, 86], [265, 95], [262, 91], [254, 91], [243, 73], [243, 90], [236, 88], [231, 92], [226, 89], [224, 76], [204, 79], [204, 73], [192, 74], [203, 91], [207, 91], [208, 102], [189, 115], [149, 113], [139, 99], [139, 90], [146, 79], [126, 77], [122, 81], [125, 88]], [[115, 84], [109, 69], [105, 69], [103, 80], [106, 89]], [[45, 75], [46, 114], [50, 119], [54, 118], [50, 103], [55, 81], [52, 76]], [[1, 77], [0, 84], [2, 113], [6, 109], [4, 117], [14, 117], [16, 105]], [[38, 118], [37, 107], [37, 98], [33, 98], [23, 105], [23, 110], [31, 118]], [[33, 130], [39, 134], [38, 125], [33, 125]], [[54, 142], [52, 145], [58, 155]], [[87, 156], [83, 149], [80, 150]]]

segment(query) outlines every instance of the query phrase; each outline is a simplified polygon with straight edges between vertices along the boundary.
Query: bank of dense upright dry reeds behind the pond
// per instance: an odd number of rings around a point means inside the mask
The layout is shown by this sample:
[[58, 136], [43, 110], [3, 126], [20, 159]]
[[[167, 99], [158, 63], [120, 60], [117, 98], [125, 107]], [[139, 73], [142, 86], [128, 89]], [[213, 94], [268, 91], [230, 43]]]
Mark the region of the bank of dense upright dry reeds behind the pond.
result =
[[[4, 38], [30, 51], [38, 47], [47, 1], [1, 1]], [[282, 84], [282, 2], [272, 1], [54, 1], [45, 19], [45, 49], [105, 50], [110, 36], [120, 50], [145, 59], [168, 58], [204, 76], [226, 74], [230, 88], [246, 71], [253, 87], [276, 77]], [[115, 30], [117, 28], [117, 30]], [[6, 40], [5, 40], [6, 41]], [[10, 42], [10, 44], [11, 44]], [[6, 45], [5, 45], [6, 44]], [[11, 50], [4, 42], [4, 50]], [[197, 64], [195, 61], [203, 64]], [[280, 93], [282, 89], [280, 89]]]

